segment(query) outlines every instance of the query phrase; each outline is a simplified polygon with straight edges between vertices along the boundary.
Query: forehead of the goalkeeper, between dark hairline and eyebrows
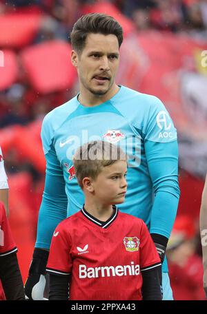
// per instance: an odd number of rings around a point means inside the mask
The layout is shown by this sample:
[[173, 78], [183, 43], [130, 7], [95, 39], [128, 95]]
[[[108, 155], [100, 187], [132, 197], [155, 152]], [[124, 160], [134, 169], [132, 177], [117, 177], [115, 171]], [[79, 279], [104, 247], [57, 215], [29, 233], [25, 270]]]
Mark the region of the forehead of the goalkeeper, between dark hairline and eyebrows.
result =
[[117, 36], [113, 34], [93, 34], [90, 33], [86, 37], [86, 50], [113, 50], [113, 52], [119, 52], [119, 41]]

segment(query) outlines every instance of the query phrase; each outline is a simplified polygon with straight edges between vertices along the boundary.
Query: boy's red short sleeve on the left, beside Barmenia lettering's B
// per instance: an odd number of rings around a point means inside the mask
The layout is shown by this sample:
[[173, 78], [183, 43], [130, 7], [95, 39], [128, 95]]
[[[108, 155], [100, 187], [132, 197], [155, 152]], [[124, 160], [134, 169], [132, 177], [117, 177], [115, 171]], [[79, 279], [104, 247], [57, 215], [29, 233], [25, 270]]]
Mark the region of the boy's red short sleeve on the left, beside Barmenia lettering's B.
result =
[[70, 275], [72, 270], [71, 240], [68, 232], [59, 224], [50, 245], [46, 271], [57, 275]]

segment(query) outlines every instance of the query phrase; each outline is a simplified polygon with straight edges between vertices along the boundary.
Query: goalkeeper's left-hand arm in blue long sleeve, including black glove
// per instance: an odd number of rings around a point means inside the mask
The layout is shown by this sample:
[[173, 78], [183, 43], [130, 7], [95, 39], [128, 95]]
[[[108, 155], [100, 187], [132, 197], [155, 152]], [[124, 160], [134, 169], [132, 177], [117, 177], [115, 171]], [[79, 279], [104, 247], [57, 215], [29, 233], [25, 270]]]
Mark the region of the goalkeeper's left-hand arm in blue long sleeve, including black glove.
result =
[[57, 224], [66, 218], [68, 198], [65, 191], [63, 172], [55, 150], [46, 154], [46, 182], [39, 209], [37, 241], [32, 256], [28, 280], [25, 284], [26, 297], [30, 300], [43, 300], [46, 285], [46, 264], [52, 233]]

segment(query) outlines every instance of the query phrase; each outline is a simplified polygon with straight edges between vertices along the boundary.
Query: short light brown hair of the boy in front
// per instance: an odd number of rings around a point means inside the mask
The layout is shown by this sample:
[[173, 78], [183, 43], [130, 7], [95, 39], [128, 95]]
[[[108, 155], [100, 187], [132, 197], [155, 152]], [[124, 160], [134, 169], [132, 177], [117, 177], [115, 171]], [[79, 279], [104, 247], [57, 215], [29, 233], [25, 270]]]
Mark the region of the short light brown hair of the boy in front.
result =
[[103, 140], [93, 140], [83, 144], [75, 151], [73, 165], [75, 176], [83, 189], [83, 178], [96, 179], [103, 167], [116, 163], [117, 160], [125, 160], [127, 156], [121, 147]]

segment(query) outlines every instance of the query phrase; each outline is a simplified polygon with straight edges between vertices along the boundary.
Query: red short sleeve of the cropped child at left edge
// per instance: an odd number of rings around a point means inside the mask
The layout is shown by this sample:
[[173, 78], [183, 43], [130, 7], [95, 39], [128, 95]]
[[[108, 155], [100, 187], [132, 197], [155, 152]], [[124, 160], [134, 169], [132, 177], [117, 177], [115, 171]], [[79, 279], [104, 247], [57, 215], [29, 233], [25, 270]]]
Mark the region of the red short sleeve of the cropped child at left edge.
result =
[[16, 251], [17, 247], [12, 237], [6, 211], [0, 202], [0, 258]]

